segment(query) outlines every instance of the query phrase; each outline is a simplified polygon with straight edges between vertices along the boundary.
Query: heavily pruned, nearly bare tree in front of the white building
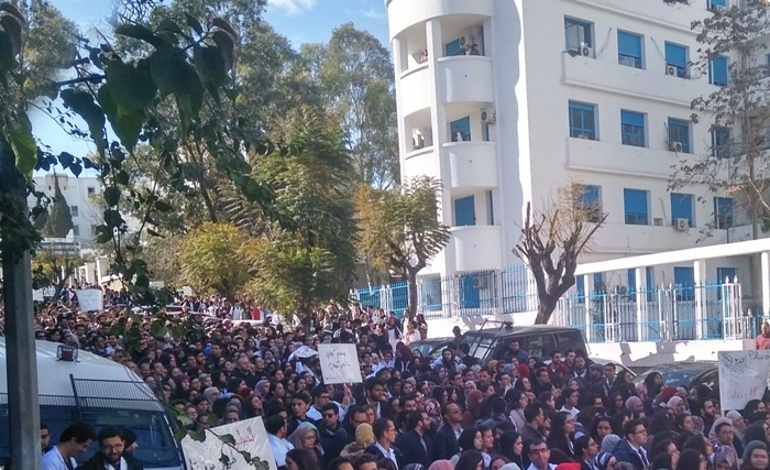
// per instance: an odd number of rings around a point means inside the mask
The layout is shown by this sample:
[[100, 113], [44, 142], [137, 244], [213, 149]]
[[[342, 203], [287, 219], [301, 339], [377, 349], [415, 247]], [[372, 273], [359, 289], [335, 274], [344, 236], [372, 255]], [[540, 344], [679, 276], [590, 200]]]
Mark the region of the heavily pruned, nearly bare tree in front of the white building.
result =
[[535, 278], [539, 300], [536, 325], [548, 323], [561, 296], [575, 284], [578, 259], [607, 219], [591, 200], [585, 186], [570, 183], [557, 190], [556, 198], [540, 214], [532, 214], [531, 203], [527, 204], [521, 239], [514, 253]]

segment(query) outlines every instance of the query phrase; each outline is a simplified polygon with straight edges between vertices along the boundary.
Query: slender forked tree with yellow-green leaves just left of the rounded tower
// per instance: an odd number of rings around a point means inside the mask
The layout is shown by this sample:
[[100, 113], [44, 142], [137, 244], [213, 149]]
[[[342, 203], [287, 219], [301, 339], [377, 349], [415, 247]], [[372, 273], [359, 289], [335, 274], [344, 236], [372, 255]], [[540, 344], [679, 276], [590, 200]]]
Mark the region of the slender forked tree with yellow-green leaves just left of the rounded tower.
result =
[[361, 185], [353, 198], [361, 228], [360, 256], [373, 267], [395, 271], [409, 285], [409, 306], [417, 308], [417, 274], [449, 242], [449, 227], [439, 219], [441, 183], [428, 176], [398, 189]]

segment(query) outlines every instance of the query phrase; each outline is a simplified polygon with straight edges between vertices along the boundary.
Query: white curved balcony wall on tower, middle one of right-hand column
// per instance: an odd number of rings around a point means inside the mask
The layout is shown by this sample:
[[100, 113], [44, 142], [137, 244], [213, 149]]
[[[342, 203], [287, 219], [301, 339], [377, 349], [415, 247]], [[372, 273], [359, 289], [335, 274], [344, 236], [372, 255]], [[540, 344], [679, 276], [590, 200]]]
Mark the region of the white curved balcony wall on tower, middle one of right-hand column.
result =
[[450, 142], [441, 159], [449, 161], [442, 178], [450, 188], [491, 189], [497, 187], [497, 154], [494, 142]]

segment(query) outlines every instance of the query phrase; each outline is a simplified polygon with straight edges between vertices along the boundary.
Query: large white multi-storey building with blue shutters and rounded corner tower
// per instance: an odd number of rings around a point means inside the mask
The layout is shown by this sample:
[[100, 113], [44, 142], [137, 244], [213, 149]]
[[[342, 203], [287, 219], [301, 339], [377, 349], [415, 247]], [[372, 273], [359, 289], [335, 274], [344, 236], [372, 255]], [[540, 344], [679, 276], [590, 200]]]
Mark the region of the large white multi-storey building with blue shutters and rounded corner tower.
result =
[[[421, 275], [520, 264], [512, 248], [527, 203], [541, 206], [571, 179], [608, 214], [582, 261], [695, 247], [707, 225], [716, 229], [698, 245], [750, 238], [729, 199], [668, 189], [676, 159], [711, 152], [710, 123], [691, 121], [691, 100], [727, 76], [690, 69], [700, 46], [691, 22], [732, 1], [385, 0], [402, 174], [443, 181], [452, 230]], [[702, 269], [595, 281], [692, 284], [749, 271], [747, 258]]]

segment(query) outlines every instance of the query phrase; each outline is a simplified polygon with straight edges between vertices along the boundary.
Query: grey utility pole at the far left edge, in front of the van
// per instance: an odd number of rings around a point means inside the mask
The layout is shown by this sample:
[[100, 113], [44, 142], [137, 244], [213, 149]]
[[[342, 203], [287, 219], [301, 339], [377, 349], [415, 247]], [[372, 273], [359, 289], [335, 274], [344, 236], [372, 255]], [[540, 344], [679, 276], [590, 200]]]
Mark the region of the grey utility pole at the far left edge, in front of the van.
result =
[[[0, 136], [0, 190], [28, 212], [26, 184], [16, 170], [15, 155]], [[4, 221], [3, 223], [8, 223]], [[9, 255], [2, 247], [3, 296], [6, 298], [6, 383], [11, 439], [11, 469], [40, 470], [40, 400], [35, 356], [32, 265], [30, 251]]]

